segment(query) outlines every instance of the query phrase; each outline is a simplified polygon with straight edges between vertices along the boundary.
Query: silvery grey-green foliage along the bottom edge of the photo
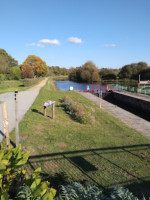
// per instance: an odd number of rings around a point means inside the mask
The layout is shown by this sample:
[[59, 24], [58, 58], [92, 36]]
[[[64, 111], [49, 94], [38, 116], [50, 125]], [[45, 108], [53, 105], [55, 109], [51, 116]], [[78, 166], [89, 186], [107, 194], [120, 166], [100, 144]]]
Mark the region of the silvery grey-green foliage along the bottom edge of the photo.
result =
[[[61, 186], [55, 200], [146, 200], [134, 196], [128, 189], [116, 186], [111, 191], [102, 191], [96, 186], [84, 187], [80, 183]], [[149, 198], [150, 200], [150, 198]]]

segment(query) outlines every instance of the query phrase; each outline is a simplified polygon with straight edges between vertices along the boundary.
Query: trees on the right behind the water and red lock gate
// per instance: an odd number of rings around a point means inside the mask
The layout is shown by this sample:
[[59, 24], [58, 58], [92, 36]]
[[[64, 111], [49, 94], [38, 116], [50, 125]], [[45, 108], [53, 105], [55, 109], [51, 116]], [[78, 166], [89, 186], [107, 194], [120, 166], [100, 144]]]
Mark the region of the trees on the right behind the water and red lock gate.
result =
[[131, 63], [120, 69], [101, 68], [98, 69], [93, 62], [71, 68], [69, 80], [75, 82], [95, 83], [103, 80], [141, 80], [150, 79], [150, 67], [146, 62]]

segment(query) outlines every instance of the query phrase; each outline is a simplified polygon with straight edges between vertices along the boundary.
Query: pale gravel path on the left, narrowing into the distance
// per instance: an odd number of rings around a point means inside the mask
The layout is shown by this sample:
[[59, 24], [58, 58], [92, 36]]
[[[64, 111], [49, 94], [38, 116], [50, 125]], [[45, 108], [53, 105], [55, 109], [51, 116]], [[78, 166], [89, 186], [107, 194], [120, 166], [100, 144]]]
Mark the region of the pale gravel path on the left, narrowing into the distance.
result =
[[[23, 119], [25, 113], [33, 104], [40, 89], [45, 85], [47, 78], [41, 81], [38, 85], [18, 93], [18, 120], [19, 122]], [[15, 101], [14, 92], [4, 93], [0, 95], [0, 101], [7, 103], [8, 109], [8, 122], [9, 122], [9, 132], [15, 128]], [[3, 139], [3, 112], [2, 104], [0, 104], [0, 142]]]

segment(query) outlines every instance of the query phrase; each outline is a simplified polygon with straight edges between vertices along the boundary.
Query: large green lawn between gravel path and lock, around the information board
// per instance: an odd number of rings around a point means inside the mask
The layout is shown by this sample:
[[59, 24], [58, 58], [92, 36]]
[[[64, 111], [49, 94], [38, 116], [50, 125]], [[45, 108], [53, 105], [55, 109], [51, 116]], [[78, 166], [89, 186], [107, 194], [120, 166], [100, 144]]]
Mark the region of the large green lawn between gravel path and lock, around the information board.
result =
[[[60, 107], [65, 95], [92, 108], [95, 122], [72, 120]], [[43, 116], [42, 105], [49, 99], [56, 101], [55, 119], [51, 108]], [[51, 184], [81, 181], [107, 188], [118, 183], [150, 195], [150, 141], [80, 94], [56, 91], [47, 84], [19, 129], [23, 149], [31, 152], [28, 170], [41, 167]]]

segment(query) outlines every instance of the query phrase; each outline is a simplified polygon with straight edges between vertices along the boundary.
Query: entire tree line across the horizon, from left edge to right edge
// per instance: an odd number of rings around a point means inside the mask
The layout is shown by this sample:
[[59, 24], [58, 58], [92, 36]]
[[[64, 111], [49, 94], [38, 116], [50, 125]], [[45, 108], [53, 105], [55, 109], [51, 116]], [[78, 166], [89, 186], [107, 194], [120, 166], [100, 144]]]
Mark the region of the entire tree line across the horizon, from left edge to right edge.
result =
[[70, 69], [59, 66], [47, 66], [40, 57], [29, 55], [22, 65], [4, 49], [0, 49], [0, 80], [19, 80], [53, 75], [65, 75], [69, 80], [84, 83], [97, 83], [103, 80], [150, 80], [150, 67], [146, 62], [131, 63], [120, 69], [98, 67], [91, 61], [80, 67]]

